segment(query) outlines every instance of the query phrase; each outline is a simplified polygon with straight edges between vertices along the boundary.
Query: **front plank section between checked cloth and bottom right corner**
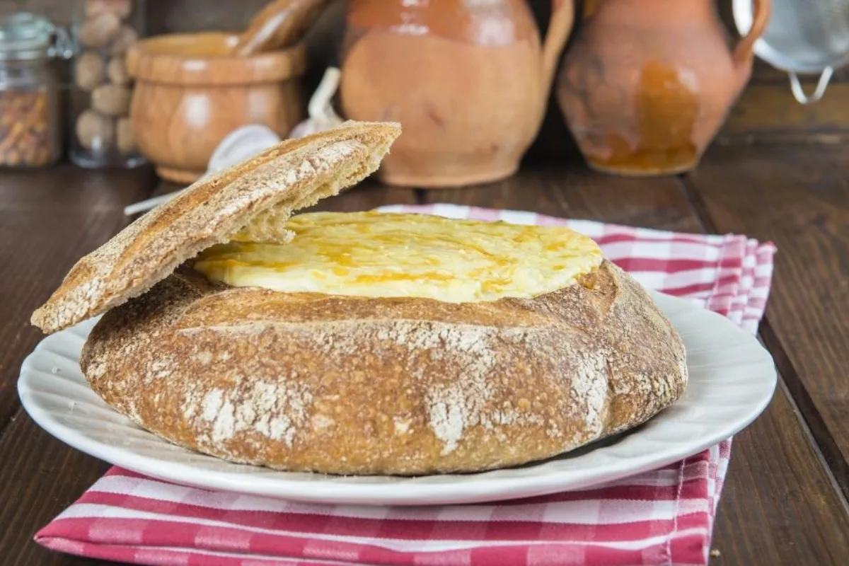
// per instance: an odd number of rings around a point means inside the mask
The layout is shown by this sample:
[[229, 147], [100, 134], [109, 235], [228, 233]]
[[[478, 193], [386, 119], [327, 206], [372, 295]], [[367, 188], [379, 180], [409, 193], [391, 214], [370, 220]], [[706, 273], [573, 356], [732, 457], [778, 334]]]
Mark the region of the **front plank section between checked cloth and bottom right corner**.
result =
[[[734, 437], [713, 548], [725, 564], [840, 564], [849, 510], [784, 386]], [[840, 558], [840, 557], [844, 558]]]

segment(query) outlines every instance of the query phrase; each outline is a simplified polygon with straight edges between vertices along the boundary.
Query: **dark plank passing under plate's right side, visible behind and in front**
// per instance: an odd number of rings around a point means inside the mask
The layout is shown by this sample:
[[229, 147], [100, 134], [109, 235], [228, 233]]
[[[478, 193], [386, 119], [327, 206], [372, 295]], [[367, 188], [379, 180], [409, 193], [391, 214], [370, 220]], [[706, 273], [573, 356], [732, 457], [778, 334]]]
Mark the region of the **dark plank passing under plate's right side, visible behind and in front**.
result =
[[[604, 177], [584, 167], [522, 174], [485, 188], [432, 191], [430, 203], [702, 232], [677, 179]], [[849, 551], [849, 515], [786, 390], [734, 440], [716, 524], [716, 563], [829, 564]]]

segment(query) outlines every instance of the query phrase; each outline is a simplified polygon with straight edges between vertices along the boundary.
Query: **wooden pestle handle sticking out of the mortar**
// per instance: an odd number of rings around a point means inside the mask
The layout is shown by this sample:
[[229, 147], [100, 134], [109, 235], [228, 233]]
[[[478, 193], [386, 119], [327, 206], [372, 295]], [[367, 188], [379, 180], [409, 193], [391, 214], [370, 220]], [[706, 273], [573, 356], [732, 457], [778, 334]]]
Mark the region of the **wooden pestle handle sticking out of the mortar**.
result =
[[233, 46], [233, 54], [249, 57], [256, 53], [288, 48], [300, 42], [307, 28], [329, 0], [276, 0], [256, 14], [248, 29]]

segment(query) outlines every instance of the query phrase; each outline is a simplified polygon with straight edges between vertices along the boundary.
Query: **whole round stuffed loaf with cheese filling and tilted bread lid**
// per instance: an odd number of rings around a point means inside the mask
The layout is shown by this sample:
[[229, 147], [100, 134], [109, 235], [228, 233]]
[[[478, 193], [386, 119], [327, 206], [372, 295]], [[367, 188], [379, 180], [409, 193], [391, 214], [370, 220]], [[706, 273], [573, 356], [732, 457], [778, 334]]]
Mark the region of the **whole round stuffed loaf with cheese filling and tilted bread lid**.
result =
[[144, 429], [233, 462], [477, 472], [633, 428], [687, 382], [649, 296], [562, 227], [293, 210], [400, 133], [347, 123], [196, 183], [83, 258], [33, 323]]

